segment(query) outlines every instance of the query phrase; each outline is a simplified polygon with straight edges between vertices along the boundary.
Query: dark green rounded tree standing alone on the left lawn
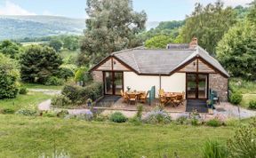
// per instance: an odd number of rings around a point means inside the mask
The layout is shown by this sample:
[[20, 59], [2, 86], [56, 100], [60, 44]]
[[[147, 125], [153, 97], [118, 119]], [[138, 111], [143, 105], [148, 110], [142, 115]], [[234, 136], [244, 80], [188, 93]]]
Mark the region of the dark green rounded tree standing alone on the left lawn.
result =
[[51, 47], [31, 45], [20, 56], [21, 79], [27, 83], [44, 83], [59, 72], [62, 59]]

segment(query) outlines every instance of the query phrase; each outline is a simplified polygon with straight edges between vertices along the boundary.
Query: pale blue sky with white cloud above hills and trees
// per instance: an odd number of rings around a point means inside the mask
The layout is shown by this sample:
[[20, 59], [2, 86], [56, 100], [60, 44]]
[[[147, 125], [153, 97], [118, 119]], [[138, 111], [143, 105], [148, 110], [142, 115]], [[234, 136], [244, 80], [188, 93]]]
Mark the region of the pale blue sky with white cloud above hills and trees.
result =
[[[222, 0], [225, 6], [247, 6], [252, 0]], [[195, 3], [209, 4], [216, 0], [133, 0], [133, 9], [144, 10], [148, 21], [184, 20]], [[85, 19], [86, 0], [0, 0], [0, 15], [55, 15]]]

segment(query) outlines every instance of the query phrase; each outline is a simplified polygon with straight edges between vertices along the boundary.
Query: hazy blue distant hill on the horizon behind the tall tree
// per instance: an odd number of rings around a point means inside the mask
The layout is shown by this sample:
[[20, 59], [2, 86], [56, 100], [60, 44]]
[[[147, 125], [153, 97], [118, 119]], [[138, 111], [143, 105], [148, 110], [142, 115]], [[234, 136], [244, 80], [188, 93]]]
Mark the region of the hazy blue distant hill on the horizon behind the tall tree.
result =
[[[157, 21], [147, 22], [147, 30], [156, 28]], [[58, 16], [0, 15], [0, 40], [25, 37], [57, 36], [61, 34], [81, 35], [85, 28], [84, 19], [71, 19]]]

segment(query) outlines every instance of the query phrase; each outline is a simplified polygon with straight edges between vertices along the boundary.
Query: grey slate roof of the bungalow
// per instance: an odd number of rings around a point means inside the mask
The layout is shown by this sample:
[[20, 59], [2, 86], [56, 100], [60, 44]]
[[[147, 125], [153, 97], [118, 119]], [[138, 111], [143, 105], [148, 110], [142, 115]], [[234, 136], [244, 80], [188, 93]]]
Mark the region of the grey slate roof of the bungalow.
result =
[[132, 67], [139, 75], [170, 75], [176, 68], [181, 67], [195, 57], [201, 57], [218, 69], [223, 75], [227, 71], [207, 51], [200, 46], [189, 49], [188, 44], [169, 44], [169, 49], [151, 50], [143, 47], [124, 51], [116, 51], [111, 56]]

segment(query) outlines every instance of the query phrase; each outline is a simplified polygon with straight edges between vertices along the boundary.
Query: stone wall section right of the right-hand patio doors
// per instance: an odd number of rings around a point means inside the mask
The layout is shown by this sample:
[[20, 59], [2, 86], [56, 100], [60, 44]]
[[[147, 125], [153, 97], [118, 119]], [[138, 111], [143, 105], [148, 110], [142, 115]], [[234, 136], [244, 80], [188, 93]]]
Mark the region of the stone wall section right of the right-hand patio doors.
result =
[[210, 74], [209, 88], [218, 92], [220, 101], [228, 101], [228, 78], [220, 74]]

